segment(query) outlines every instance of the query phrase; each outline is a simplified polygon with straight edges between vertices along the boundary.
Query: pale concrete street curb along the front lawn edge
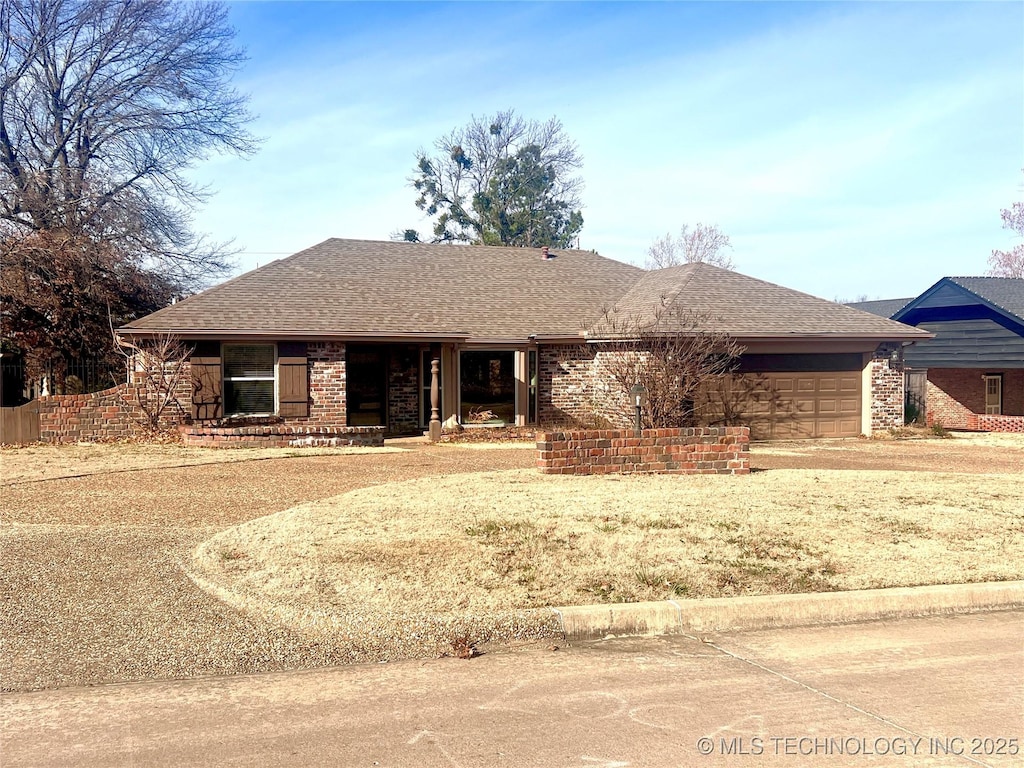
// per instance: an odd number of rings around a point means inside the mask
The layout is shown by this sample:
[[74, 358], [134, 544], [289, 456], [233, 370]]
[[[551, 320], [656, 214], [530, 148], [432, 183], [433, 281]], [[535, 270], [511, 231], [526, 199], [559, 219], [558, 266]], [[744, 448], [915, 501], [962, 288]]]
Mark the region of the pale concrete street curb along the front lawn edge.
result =
[[566, 640], [806, 627], [1024, 607], [1024, 582], [553, 608]]

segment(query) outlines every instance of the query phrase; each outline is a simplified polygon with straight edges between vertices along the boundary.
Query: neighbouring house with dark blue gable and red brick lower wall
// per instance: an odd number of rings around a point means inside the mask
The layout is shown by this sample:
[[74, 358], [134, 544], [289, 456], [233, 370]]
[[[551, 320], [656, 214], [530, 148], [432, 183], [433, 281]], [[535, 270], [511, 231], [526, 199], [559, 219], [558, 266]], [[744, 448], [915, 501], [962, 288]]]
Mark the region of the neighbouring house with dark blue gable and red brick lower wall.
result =
[[914, 299], [852, 304], [935, 338], [906, 350], [929, 424], [1024, 431], [1024, 280], [943, 278]]

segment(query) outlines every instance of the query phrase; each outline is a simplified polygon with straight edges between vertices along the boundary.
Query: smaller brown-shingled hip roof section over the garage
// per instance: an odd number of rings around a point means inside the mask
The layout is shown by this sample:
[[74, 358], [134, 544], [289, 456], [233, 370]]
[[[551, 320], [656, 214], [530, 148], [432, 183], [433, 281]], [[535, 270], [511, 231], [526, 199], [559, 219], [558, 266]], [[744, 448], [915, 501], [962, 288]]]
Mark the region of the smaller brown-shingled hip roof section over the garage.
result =
[[[709, 330], [735, 338], [928, 337], [902, 323], [700, 263], [646, 272], [614, 308], [641, 325], [653, 323], [659, 308], [670, 315], [691, 312], [706, 317]], [[588, 335], [606, 331], [599, 323]]]

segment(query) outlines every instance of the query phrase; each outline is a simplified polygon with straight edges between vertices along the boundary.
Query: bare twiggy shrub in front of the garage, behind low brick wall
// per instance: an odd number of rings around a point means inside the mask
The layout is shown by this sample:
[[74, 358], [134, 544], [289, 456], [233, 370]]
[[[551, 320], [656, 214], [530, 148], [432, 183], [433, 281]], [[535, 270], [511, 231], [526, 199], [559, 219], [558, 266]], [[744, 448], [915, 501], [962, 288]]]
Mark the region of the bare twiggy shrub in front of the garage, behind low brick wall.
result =
[[644, 427], [691, 426], [699, 420], [700, 393], [728, 377], [743, 351], [727, 334], [712, 330], [713, 319], [677, 307], [646, 318], [603, 313], [592, 335], [600, 340], [598, 368], [614, 389], [609, 404], [615, 422], [632, 423], [630, 393], [637, 384], [647, 390]]

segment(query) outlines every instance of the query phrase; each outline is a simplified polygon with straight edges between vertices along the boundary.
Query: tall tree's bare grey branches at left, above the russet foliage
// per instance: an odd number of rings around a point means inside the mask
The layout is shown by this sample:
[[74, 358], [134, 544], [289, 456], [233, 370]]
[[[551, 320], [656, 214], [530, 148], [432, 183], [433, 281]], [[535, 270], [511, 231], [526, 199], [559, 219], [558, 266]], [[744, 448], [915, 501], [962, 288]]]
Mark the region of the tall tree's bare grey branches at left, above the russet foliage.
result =
[[184, 170], [246, 154], [243, 60], [224, 6], [0, 0], [0, 221], [102, 241], [193, 285], [227, 268], [191, 231], [207, 190]]

